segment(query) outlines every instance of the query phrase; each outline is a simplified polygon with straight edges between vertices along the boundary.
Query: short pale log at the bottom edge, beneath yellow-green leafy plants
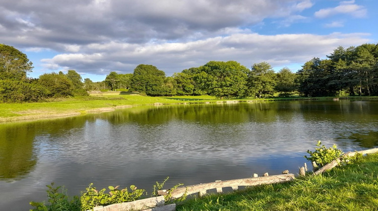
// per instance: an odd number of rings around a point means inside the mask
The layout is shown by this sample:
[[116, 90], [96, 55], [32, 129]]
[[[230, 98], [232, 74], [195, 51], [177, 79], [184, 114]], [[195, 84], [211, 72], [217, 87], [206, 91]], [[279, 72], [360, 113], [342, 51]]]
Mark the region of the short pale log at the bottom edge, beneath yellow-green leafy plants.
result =
[[146, 208], [164, 205], [164, 196], [145, 198], [136, 201], [115, 203], [107, 206], [96, 206], [93, 210], [96, 211], [129, 211], [142, 210]]

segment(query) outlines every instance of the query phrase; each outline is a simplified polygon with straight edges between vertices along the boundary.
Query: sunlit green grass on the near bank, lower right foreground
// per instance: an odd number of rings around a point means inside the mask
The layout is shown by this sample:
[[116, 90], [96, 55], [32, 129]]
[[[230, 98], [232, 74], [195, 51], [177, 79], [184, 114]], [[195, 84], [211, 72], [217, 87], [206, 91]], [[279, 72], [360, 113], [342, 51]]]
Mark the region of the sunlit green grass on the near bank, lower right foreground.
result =
[[378, 210], [378, 154], [323, 175], [186, 200], [176, 210]]

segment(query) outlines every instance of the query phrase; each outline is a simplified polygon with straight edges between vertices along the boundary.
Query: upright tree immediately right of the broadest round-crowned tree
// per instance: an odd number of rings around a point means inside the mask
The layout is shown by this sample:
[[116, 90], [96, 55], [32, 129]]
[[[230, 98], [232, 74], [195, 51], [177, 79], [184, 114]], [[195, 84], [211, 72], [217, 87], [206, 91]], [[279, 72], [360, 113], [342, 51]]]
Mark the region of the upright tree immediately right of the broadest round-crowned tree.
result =
[[267, 94], [273, 95], [276, 85], [276, 73], [268, 62], [255, 63], [248, 75], [249, 91], [261, 98]]

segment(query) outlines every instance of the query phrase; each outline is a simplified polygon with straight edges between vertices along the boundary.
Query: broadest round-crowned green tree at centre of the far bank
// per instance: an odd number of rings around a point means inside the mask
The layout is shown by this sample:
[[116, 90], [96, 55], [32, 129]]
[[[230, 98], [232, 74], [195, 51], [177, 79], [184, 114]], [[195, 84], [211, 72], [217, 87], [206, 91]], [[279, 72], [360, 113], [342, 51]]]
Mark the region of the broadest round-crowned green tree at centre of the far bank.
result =
[[[210, 61], [199, 67], [202, 83], [210, 95], [220, 98], [245, 97], [249, 70], [236, 61]], [[199, 77], [197, 77], [199, 79]]]

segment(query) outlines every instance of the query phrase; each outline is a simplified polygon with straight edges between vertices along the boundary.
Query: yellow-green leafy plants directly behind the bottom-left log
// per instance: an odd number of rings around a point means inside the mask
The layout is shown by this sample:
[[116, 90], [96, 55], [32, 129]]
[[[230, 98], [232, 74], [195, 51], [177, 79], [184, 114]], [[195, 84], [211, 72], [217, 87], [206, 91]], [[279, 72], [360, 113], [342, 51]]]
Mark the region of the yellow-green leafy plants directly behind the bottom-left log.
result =
[[86, 191], [81, 193], [81, 209], [88, 210], [95, 206], [105, 206], [114, 203], [135, 201], [144, 193], [144, 189], [137, 189], [135, 185], [131, 185], [129, 192], [128, 188], [117, 189], [119, 186], [109, 186], [109, 194], [105, 193], [105, 188], [97, 190], [93, 187], [93, 183], [89, 184]]

